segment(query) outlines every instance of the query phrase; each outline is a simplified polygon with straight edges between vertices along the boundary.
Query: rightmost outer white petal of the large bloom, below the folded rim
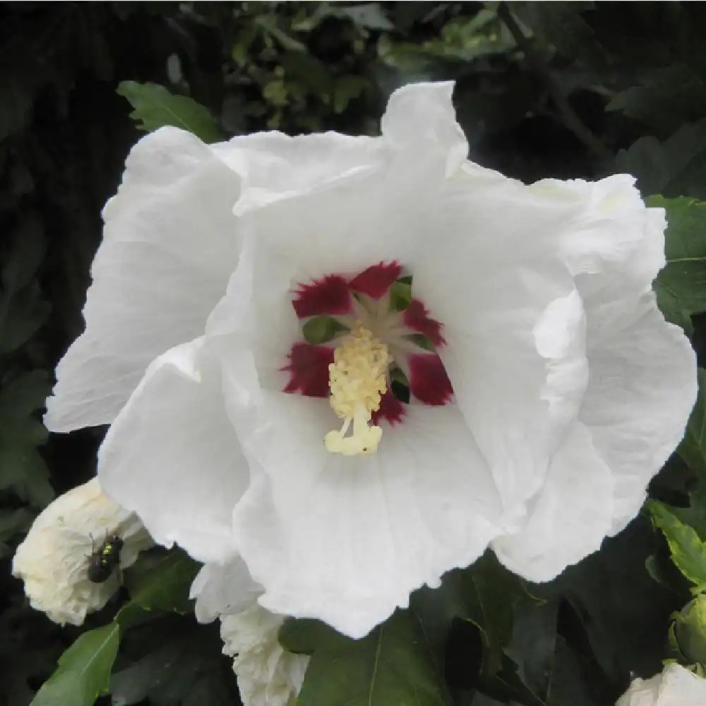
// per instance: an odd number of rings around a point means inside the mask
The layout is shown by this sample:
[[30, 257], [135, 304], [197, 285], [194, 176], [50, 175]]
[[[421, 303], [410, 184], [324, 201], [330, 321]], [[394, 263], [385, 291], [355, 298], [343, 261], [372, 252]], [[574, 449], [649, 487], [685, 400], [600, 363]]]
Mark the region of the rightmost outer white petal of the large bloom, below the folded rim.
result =
[[579, 418], [614, 473], [614, 534], [638, 513], [647, 483], [681, 441], [697, 381], [693, 349], [664, 321], [652, 292], [605, 294], [586, 299], [591, 376]]

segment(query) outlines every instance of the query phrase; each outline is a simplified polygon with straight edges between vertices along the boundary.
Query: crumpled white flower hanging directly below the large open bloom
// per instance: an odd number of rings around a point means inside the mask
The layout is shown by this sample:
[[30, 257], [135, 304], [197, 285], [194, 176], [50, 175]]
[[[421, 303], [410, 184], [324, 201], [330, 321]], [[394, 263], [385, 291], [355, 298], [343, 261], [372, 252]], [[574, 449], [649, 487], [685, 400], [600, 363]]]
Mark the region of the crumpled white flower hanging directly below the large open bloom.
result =
[[299, 694], [309, 657], [282, 648], [277, 632], [285, 616], [259, 606], [261, 593], [239, 557], [225, 566], [205, 565], [191, 587], [198, 620], [220, 618], [223, 652], [234, 657], [244, 705], [287, 706]]

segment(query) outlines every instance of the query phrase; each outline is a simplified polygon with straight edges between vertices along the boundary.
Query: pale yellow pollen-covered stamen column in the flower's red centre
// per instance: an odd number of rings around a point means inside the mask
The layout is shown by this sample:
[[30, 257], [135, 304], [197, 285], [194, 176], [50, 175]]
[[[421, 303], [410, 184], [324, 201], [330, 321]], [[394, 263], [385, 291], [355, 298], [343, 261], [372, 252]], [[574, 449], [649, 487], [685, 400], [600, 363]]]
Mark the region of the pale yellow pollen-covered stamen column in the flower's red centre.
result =
[[[328, 386], [331, 407], [343, 419], [343, 426], [326, 434], [327, 451], [354, 456], [377, 450], [383, 430], [371, 425], [370, 419], [387, 389], [389, 364], [388, 347], [359, 322], [347, 341], [335, 349], [328, 366]], [[345, 436], [349, 429], [350, 436]]]

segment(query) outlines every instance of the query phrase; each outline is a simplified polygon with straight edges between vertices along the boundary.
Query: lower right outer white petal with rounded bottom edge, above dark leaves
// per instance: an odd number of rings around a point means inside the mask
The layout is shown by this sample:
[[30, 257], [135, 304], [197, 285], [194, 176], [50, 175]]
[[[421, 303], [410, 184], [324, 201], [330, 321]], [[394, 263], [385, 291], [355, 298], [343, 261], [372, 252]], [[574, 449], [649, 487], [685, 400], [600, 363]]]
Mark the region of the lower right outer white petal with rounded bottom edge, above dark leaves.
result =
[[530, 503], [525, 527], [493, 542], [498, 558], [527, 580], [553, 579], [601, 546], [610, 528], [613, 486], [590, 433], [575, 424]]

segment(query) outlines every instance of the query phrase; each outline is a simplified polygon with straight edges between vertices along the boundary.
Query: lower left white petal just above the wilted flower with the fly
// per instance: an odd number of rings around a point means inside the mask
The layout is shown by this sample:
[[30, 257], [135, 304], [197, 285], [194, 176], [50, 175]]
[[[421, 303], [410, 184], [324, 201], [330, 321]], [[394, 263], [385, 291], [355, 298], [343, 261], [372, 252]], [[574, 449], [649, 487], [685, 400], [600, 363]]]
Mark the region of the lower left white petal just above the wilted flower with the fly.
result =
[[203, 339], [150, 365], [101, 445], [98, 476], [155, 542], [200, 561], [232, 556], [232, 510], [249, 472]]

